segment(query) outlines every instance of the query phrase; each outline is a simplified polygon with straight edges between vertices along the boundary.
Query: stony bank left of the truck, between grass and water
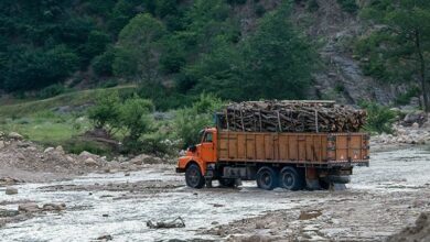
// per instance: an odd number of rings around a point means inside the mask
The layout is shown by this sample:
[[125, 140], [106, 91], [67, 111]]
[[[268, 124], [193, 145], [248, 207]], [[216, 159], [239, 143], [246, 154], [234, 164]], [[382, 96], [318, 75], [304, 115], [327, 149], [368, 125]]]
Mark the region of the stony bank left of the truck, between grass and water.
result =
[[0, 132], [0, 186], [71, 179], [88, 173], [138, 170], [143, 164], [169, 162], [149, 155], [108, 161], [88, 152], [67, 154], [62, 146], [42, 147], [23, 140], [18, 133], [7, 135]]

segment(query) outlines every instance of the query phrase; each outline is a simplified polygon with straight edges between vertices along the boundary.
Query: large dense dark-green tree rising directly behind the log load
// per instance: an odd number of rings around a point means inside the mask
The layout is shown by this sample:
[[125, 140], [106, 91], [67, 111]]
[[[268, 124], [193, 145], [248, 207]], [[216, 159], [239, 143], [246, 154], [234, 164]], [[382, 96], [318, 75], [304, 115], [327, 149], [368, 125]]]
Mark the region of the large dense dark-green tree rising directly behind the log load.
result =
[[290, 21], [291, 6], [265, 14], [258, 29], [245, 43], [246, 82], [249, 98], [305, 97], [315, 62], [309, 41]]

